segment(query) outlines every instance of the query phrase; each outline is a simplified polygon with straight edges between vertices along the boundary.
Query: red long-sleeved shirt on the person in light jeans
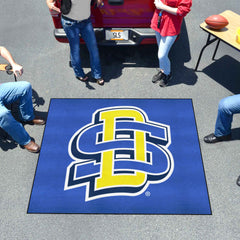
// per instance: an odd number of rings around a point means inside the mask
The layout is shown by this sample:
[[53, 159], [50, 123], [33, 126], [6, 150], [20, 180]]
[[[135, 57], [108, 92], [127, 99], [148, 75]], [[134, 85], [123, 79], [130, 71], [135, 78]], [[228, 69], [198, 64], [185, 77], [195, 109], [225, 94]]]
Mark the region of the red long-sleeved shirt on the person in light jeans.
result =
[[158, 14], [160, 10], [156, 9], [152, 21], [151, 28], [161, 34], [161, 36], [175, 36], [180, 33], [183, 18], [190, 12], [192, 0], [161, 0], [164, 4], [177, 8], [177, 15], [162, 12], [160, 27], [158, 28]]

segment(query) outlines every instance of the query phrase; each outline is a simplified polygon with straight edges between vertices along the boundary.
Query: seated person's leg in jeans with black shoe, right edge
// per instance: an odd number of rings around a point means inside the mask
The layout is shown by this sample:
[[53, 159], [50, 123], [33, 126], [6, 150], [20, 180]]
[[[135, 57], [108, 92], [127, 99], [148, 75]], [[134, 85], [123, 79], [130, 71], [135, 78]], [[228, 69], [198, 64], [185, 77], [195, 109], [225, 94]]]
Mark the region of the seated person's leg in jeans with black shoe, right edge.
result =
[[231, 140], [233, 115], [240, 113], [240, 94], [223, 98], [218, 104], [215, 131], [204, 137], [206, 143]]

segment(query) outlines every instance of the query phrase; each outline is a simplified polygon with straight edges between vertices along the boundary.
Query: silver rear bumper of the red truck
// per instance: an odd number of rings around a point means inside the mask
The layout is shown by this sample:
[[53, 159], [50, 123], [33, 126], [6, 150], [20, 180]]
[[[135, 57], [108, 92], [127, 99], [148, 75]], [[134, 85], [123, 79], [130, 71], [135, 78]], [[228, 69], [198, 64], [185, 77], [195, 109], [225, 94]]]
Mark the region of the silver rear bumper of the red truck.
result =
[[[103, 46], [116, 46], [156, 43], [155, 32], [151, 28], [114, 28], [114, 30], [128, 30], [129, 40], [105, 40], [105, 29], [94, 28], [98, 44]], [[62, 28], [55, 29], [54, 36], [59, 42], [68, 42], [66, 34]]]

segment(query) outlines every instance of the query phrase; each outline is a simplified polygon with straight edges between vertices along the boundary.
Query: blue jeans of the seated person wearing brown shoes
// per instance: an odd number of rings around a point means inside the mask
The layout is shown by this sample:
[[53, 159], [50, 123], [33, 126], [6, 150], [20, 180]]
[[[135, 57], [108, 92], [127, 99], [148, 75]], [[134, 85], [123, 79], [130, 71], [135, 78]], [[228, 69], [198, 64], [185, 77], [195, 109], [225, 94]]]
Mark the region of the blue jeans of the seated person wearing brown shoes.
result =
[[32, 105], [32, 87], [28, 82], [9, 82], [0, 85], [0, 127], [17, 143], [26, 145], [31, 141], [23, 125], [15, 120], [5, 105], [19, 100], [20, 119], [34, 119]]

